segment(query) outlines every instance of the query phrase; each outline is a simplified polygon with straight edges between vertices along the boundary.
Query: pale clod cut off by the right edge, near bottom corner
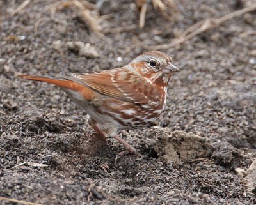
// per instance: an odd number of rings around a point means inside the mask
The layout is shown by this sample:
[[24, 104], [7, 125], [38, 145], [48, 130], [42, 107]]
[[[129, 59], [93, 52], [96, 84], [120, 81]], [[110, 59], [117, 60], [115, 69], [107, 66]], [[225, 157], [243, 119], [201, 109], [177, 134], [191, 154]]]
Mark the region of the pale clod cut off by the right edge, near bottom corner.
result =
[[249, 169], [246, 171], [246, 176], [243, 178], [244, 186], [248, 192], [256, 193], [256, 160], [250, 165]]

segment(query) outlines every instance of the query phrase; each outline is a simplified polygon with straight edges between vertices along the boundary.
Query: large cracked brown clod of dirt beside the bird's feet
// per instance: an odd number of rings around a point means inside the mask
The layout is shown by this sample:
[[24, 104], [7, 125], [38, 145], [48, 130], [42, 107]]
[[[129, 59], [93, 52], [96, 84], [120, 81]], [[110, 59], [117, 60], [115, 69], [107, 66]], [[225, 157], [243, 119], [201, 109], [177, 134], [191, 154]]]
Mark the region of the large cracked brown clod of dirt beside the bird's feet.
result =
[[171, 132], [169, 128], [164, 128], [156, 137], [154, 149], [166, 162], [189, 163], [198, 158], [205, 158], [211, 153], [209, 140], [193, 133]]

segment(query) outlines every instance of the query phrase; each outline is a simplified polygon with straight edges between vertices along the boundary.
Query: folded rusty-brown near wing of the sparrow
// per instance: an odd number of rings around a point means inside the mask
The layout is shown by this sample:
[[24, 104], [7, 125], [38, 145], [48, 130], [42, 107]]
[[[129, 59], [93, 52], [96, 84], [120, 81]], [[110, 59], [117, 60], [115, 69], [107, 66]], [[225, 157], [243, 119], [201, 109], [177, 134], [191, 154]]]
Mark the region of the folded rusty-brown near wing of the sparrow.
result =
[[90, 87], [102, 95], [140, 105], [146, 105], [150, 101], [148, 95], [154, 93], [151, 84], [124, 68], [63, 78]]

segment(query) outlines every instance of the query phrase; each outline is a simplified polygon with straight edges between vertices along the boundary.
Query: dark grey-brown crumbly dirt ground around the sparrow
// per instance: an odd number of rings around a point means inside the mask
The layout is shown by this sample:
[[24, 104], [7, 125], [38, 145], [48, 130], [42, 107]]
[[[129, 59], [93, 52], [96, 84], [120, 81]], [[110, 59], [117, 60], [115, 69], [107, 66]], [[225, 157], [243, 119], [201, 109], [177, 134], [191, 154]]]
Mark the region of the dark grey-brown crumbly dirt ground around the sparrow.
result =
[[[22, 2], [0, 1], [0, 197], [38, 204], [256, 203], [236, 173], [256, 158], [255, 12], [164, 50], [180, 68], [166, 110], [156, 126], [120, 133], [140, 156], [117, 166], [124, 148], [114, 139], [90, 140], [86, 113], [65, 93], [17, 77], [123, 66], [145, 51], [138, 41], [168, 43], [200, 20], [253, 1], [179, 0], [173, 22], [149, 6], [144, 29], [122, 32], [113, 29], [138, 25], [134, 1], [104, 1], [102, 39], [77, 8], [54, 11], [57, 1], [33, 0], [12, 16]], [[90, 43], [99, 57], [79, 56], [68, 41]]]

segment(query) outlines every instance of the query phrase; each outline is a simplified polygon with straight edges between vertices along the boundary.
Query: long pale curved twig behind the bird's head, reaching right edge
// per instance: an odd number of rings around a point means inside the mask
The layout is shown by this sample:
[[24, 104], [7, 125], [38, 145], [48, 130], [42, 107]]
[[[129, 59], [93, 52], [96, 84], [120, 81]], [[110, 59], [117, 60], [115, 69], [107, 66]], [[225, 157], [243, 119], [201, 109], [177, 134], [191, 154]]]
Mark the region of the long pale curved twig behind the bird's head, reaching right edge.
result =
[[140, 43], [140, 44], [143, 48], [148, 49], [148, 50], [170, 49], [171, 47], [175, 47], [177, 45], [180, 45], [180, 44], [188, 41], [189, 39], [197, 36], [198, 34], [204, 33], [205, 31], [208, 31], [209, 29], [212, 29], [216, 26], [220, 26], [220, 24], [222, 24], [223, 22], [225, 22], [229, 19], [232, 19], [234, 17], [239, 17], [239, 16], [243, 15], [244, 13], [248, 13], [248, 12], [251, 12], [254, 10], [256, 10], [256, 4], [253, 4], [252, 6], [248, 6], [241, 10], [238, 10], [238, 11], [234, 11], [234, 12], [229, 13], [228, 15], [224, 15], [223, 17], [220, 17], [218, 19], [202, 20], [202, 21], [192, 25], [188, 29], [186, 29], [184, 31], [184, 33], [181, 34], [180, 38], [172, 43], [167, 43], [167, 44], [163, 44], [163, 45], [152, 45], [152, 46], [144, 45], [142, 43]]

